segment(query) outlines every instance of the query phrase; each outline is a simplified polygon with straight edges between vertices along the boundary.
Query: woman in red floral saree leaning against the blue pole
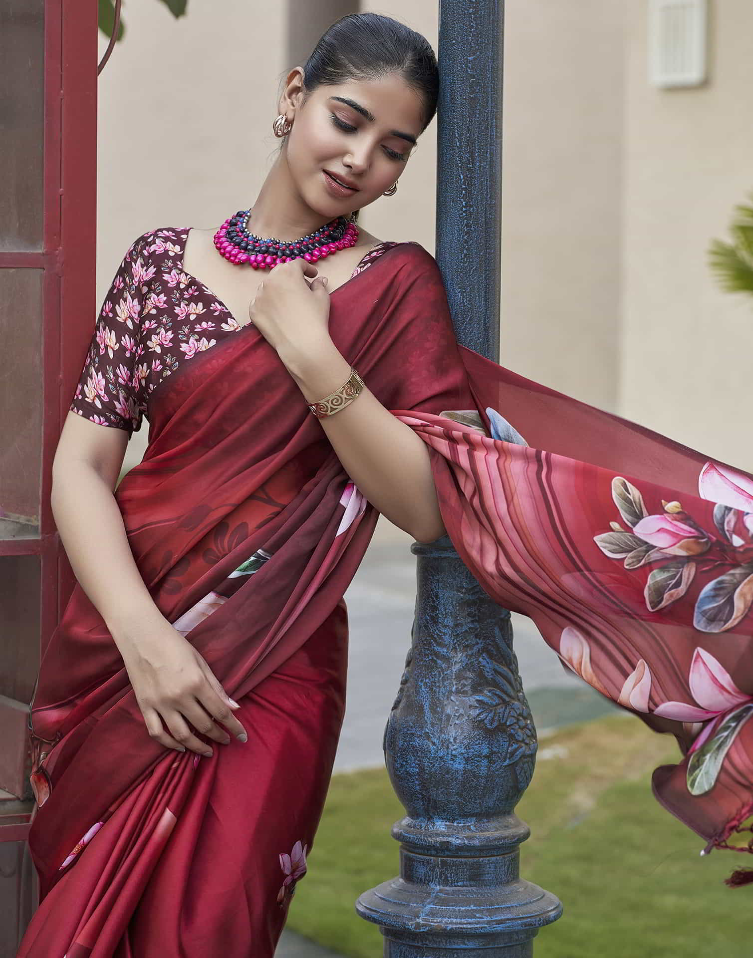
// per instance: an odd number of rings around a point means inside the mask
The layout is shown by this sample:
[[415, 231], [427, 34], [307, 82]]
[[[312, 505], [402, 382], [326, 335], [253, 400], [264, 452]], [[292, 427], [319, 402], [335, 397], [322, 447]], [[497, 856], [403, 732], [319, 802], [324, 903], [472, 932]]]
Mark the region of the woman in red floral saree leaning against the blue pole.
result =
[[[273, 955], [380, 512], [446, 532], [564, 663], [673, 732], [684, 760], [654, 790], [708, 847], [742, 824], [753, 477], [459, 347], [427, 251], [358, 230], [436, 102], [421, 35], [344, 17], [288, 74], [251, 210], [125, 255], [56, 457], [79, 584], [31, 707], [41, 901], [21, 958]], [[729, 615], [704, 606], [723, 644], [688, 613], [721, 570], [742, 583]]]

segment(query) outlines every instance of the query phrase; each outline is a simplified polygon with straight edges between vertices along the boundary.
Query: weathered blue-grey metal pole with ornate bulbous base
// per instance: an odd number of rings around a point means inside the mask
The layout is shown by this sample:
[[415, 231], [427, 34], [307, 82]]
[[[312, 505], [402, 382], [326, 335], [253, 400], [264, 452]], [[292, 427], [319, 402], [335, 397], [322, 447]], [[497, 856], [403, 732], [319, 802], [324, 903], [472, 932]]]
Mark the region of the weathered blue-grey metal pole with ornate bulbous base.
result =
[[[439, 8], [437, 261], [458, 342], [498, 361], [504, 4]], [[562, 906], [519, 876], [530, 830], [514, 808], [534, 773], [536, 729], [510, 613], [448, 536], [411, 551], [416, 618], [384, 732], [407, 811], [392, 830], [400, 874], [355, 907], [379, 925], [388, 958], [530, 958]]]

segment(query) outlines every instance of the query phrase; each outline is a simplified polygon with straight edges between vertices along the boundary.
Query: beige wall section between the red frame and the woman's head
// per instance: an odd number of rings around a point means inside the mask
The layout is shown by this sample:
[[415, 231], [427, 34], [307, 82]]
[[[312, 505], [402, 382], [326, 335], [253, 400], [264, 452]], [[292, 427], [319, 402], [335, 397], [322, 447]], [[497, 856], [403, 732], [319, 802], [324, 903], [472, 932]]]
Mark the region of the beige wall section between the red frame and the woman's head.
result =
[[141, 233], [218, 225], [261, 187], [286, 34], [285, 4], [265, 4], [263, 25], [256, 7], [190, 4], [175, 19], [153, 0], [124, 4], [127, 32], [99, 80], [100, 302]]

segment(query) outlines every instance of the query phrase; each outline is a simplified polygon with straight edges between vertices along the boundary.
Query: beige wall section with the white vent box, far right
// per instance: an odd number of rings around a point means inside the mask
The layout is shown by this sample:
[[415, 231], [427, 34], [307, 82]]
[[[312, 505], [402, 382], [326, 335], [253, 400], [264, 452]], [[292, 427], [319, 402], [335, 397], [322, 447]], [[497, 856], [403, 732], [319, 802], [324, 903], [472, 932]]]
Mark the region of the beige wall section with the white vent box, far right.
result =
[[753, 188], [753, 4], [712, 0], [709, 81], [673, 90], [646, 80], [646, 3], [627, 6], [621, 410], [750, 469], [753, 300], [706, 257]]

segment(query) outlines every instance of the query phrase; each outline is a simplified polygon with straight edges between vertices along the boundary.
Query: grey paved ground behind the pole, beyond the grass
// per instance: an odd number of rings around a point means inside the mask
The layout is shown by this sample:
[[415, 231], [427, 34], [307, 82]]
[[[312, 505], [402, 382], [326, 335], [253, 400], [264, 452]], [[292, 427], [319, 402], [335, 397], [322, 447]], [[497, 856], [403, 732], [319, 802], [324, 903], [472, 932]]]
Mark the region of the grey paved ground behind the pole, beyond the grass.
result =
[[[335, 772], [384, 765], [382, 736], [410, 648], [416, 602], [412, 541], [412, 536], [380, 518], [377, 533], [345, 593], [351, 629], [348, 699]], [[513, 615], [513, 634], [539, 739], [559, 725], [614, 710], [577, 675], [565, 673], [530, 619]], [[396, 844], [396, 856], [397, 851]], [[276, 958], [336, 956], [285, 931]]]

